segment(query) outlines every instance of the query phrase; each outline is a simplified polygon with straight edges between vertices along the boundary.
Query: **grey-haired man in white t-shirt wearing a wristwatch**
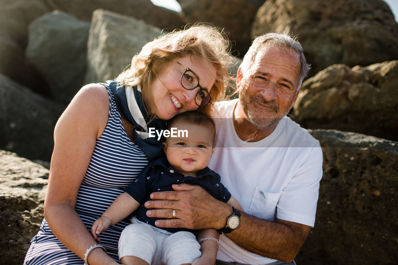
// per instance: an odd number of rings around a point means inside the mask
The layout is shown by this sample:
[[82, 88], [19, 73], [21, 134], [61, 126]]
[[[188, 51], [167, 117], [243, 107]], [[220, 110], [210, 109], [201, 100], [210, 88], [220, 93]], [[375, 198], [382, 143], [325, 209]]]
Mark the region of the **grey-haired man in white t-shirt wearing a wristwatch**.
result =
[[308, 70], [288, 35], [254, 40], [238, 70], [239, 99], [217, 105], [215, 117], [226, 119], [216, 118], [219, 142], [209, 164], [244, 212], [178, 185], [146, 202], [157, 209], [148, 216], [175, 218], [157, 226], [222, 229], [216, 264], [295, 264], [314, 226], [322, 177], [319, 142], [286, 117]]

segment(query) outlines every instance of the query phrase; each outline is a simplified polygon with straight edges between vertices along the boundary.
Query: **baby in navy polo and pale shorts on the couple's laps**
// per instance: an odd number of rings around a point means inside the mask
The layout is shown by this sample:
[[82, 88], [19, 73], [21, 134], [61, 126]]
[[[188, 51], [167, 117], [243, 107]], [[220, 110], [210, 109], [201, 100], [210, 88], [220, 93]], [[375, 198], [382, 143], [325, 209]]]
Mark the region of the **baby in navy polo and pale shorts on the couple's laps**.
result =
[[[147, 217], [148, 209], [144, 207], [153, 192], [172, 191], [172, 185], [179, 183], [200, 185], [216, 199], [242, 208], [220, 183], [220, 175], [207, 167], [214, 152], [213, 120], [199, 111], [188, 111], [170, 120], [168, 130], [171, 128], [186, 130], [187, 134], [166, 138], [163, 143], [166, 157], [150, 162], [92, 226], [91, 233], [100, 242], [101, 232], [137, 210], [131, 218], [132, 224], [123, 230], [119, 240], [122, 264], [180, 265], [195, 260], [195, 264], [215, 263], [219, 233], [215, 229], [156, 227], [158, 219]], [[173, 218], [178, 218], [176, 210]]]

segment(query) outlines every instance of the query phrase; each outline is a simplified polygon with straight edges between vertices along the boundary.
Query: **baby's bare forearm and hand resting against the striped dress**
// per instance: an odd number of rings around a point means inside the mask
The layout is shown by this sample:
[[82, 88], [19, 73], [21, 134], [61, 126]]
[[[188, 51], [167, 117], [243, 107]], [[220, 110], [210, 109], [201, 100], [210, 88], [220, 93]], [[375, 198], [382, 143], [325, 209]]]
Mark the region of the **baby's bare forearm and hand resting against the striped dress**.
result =
[[133, 197], [128, 193], [123, 192], [92, 225], [91, 234], [94, 239], [100, 243], [101, 240], [98, 238], [98, 235], [101, 232], [129, 216], [129, 214], [134, 212], [139, 206], [140, 204], [133, 199]]

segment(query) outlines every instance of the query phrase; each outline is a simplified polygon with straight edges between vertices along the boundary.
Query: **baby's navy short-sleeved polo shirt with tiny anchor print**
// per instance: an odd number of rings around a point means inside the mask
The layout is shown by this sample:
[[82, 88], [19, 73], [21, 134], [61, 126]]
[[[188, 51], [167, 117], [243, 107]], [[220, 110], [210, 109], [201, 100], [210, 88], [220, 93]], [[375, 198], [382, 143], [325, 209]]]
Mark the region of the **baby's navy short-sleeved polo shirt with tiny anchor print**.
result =
[[[137, 209], [137, 219], [155, 226], [155, 221], [160, 218], [150, 218], [146, 216], [147, 208], [144, 207], [146, 201], [150, 201], [150, 194], [156, 191], [172, 191], [173, 184], [187, 183], [189, 185], [199, 185], [210, 193], [215, 199], [224, 203], [231, 198], [231, 193], [222, 185], [219, 174], [206, 167], [197, 171], [197, 177], [184, 175], [170, 166], [166, 157], [154, 160], [144, 168], [137, 179], [125, 189], [125, 192], [133, 197], [141, 206]], [[162, 228], [169, 232], [189, 231], [186, 228]]]

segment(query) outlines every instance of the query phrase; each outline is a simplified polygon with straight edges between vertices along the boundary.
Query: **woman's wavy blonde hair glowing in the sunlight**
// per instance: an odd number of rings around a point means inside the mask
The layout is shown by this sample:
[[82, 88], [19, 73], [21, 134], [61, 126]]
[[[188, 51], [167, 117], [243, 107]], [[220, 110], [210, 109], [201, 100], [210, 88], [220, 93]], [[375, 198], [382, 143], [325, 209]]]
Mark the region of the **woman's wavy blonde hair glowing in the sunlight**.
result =
[[143, 100], [149, 113], [154, 116], [156, 107], [148, 88], [157, 74], [176, 58], [191, 55], [203, 59], [217, 70], [215, 83], [210, 90], [212, 102], [199, 107], [209, 114], [213, 102], [224, 99], [226, 85], [234, 82], [227, 69], [232, 61], [229, 51], [228, 38], [218, 28], [203, 23], [194, 24], [146, 43], [140, 53], [133, 57], [131, 67], [123, 71], [116, 81], [125, 86], [140, 85]]

